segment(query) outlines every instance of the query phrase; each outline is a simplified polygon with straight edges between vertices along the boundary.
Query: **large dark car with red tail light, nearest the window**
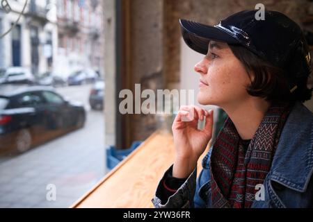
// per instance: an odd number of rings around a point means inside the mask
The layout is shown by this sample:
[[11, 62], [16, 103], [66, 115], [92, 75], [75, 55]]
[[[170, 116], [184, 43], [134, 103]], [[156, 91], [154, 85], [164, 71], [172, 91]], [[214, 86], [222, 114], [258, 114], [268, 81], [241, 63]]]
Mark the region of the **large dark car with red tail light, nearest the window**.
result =
[[51, 87], [0, 87], [0, 153], [32, 146], [83, 127], [82, 105], [65, 101]]

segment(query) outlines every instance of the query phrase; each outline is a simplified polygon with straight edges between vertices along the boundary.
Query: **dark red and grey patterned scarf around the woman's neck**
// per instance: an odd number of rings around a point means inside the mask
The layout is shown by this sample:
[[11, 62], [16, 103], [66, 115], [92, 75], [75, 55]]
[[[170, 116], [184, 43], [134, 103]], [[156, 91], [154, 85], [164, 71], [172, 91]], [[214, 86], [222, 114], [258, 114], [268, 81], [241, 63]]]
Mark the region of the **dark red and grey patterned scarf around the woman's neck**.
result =
[[232, 120], [225, 121], [212, 147], [212, 204], [216, 208], [251, 207], [256, 185], [263, 184], [292, 105], [276, 103], [266, 112], [245, 151]]

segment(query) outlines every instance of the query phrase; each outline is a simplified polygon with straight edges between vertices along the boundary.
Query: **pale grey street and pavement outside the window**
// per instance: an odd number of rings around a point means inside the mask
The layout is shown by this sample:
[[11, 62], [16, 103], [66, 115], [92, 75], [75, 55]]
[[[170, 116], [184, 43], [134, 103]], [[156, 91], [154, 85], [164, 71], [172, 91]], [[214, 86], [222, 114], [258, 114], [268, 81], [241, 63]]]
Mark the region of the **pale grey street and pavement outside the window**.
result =
[[[70, 207], [106, 174], [104, 114], [90, 110], [90, 88], [56, 89], [66, 99], [83, 103], [84, 128], [0, 159], [0, 207]], [[51, 191], [55, 200], [49, 198]]]

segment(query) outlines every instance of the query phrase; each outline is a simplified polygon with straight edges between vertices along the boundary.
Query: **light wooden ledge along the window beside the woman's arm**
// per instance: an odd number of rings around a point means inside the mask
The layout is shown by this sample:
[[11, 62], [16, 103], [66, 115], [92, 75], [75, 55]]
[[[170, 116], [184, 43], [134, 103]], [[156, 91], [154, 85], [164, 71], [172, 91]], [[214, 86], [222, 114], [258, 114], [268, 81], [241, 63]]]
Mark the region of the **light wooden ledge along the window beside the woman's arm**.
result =
[[151, 199], [163, 173], [172, 164], [174, 156], [172, 135], [158, 131], [71, 207], [153, 207]]

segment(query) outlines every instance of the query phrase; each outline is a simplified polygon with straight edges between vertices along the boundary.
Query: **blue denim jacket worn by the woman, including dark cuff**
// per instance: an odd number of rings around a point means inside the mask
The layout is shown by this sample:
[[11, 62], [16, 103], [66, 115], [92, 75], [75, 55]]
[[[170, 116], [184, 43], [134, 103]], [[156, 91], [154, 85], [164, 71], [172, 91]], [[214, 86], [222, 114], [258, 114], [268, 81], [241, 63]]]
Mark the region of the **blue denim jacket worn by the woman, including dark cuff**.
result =
[[[252, 207], [313, 207], [313, 114], [296, 103], [284, 125], [278, 148], [262, 187], [264, 198], [256, 198]], [[161, 203], [158, 197], [166, 171], [152, 199], [154, 207], [212, 207], [209, 161], [211, 149], [202, 160], [198, 178], [196, 169], [186, 182]]]

